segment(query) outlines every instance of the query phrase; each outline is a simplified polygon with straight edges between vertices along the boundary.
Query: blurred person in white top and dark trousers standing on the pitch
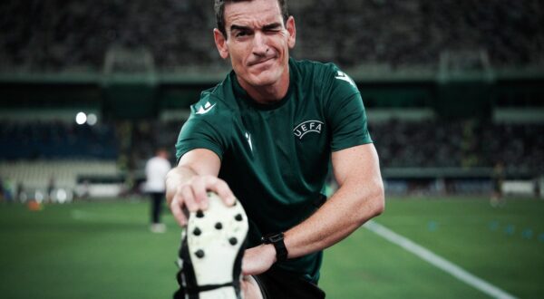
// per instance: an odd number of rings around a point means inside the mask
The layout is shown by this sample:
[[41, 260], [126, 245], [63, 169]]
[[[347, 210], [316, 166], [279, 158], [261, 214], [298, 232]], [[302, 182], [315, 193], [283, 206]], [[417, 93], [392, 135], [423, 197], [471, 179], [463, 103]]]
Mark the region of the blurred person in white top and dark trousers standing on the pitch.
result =
[[169, 153], [166, 149], [157, 149], [155, 156], [149, 159], [145, 165], [147, 178], [145, 191], [151, 197], [151, 232], [164, 233], [166, 226], [160, 222], [162, 202], [165, 195], [165, 179], [171, 165]]

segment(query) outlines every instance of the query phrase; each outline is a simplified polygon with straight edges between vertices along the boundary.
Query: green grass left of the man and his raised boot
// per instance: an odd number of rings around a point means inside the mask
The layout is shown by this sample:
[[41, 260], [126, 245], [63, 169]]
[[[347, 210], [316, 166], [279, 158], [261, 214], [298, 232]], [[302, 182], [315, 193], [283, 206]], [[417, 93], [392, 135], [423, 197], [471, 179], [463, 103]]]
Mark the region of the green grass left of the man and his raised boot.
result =
[[0, 210], [3, 298], [167, 298], [180, 229], [148, 230], [145, 203], [104, 202]]

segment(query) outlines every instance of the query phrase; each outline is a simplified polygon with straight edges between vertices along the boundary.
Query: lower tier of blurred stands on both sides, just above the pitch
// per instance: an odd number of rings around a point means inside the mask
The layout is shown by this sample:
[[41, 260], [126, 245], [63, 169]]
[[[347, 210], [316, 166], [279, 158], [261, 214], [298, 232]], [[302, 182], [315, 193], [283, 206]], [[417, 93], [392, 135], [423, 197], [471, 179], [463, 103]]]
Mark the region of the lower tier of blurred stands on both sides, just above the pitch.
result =
[[[369, 113], [372, 115], [372, 111]], [[104, 183], [103, 178], [112, 182], [113, 178], [118, 183], [122, 177], [121, 181], [132, 179], [131, 184], [137, 184], [145, 160], [154, 149], [165, 147], [174, 157], [173, 144], [182, 125], [182, 121], [138, 121], [135, 126], [102, 128], [102, 135], [92, 135], [91, 128], [77, 130], [79, 126], [61, 123], [2, 123], [2, 142], [8, 146], [2, 147], [0, 178], [24, 182], [24, 187], [31, 190], [46, 188], [50, 178], [55, 178], [59, 187], [70, 190], [81, 188], [84, 178], [102, 178], [97, 183]], [[392, 169], [402, 170], [400, 175], [393, 172], [393, 178], [413, 177], [416, 173], [418, 177], [432, 178], [427, 182], [431, 185], [440, 173], [486, 178], [498, 162], [504, 164], [512, 178], [537, 178], [544, 169], [543, 123], [393, 119], [371, 122], [369, 129], [385, 175], [391, 174]], [[130, 147], [116, 151], [113, 136], [124, 136], [116, 143], [121, 147], [121, 143], [130, 142]], [[424, 169], [440, 170], [426, 175]], [[449, 173], [445, 169], [458, 170]], [[128, 174], [132, 177], [126, 177]], [[488, 180], [481, 181], [481, 188], [491, 188]], [[457, 192], [481, 191], [472, 186], [474, 182], [468, 187], [455, 184], [459, 185]], [[390, 185], [394, 189], [394, 182]]]

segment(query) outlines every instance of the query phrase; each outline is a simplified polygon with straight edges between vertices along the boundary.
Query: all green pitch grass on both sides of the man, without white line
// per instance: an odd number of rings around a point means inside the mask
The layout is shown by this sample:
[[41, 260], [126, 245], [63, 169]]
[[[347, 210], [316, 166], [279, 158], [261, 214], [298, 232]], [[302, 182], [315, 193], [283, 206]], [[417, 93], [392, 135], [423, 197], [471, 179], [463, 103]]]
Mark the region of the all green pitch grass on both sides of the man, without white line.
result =
[[[147, 202], [0, 204], [0, 297], [169, 298], [180, 229], [148, 230]], [[377, 222], [520, 298], [544, 297], [544, 202], [390, 199]], [[530, 234], [529, 234], [530, 229]], [[486, 298], [361, 228], [325, 251], [328, 298]]]

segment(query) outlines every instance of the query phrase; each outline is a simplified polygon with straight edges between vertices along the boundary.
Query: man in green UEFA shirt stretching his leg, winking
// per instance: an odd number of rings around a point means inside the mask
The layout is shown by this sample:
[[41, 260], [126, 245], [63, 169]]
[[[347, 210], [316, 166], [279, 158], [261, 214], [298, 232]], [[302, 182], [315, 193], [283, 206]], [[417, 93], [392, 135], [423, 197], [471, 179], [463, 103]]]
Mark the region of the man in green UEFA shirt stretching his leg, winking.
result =
[[[202, 260], [215, 258], [210, 253], [228, 250], [228, 244], [220, 250], [206, 247], [214, 242], [211, 236], [221, 237], [232, 227], [188, 231], [176, 297], [187, 292], [189, 297], [323, 298], [317, 286], [323, 249], [384, 209], [361, 94], [334, 64], [289, 57], [296, 26], [286, 2], [215, 1], [215, 43], [233, 71], [191, 107], [177, 143], [178, 166], [167, 178], [167, 198], [174, 217], [186, 226], [184, 210], [196, 215], [189, 217], [190, 225], [217, 207], [209, 205], [207, 191], [216, 192], [226, 206], [235, 205], [236, 196], [247, 211], [248, 249], [241, 265], [237, 258], [201, 267]], [[339, 188], [323, 200], [330, 160]], [[195, 244], [200, 247], [191, 247]], [[232, 274], [227, 284], [213, 280], [222, 268], [232, 267], [235, 274], [241, 270], [241, 282]], [[214, 284], [199, 285], [195, 276]]]

